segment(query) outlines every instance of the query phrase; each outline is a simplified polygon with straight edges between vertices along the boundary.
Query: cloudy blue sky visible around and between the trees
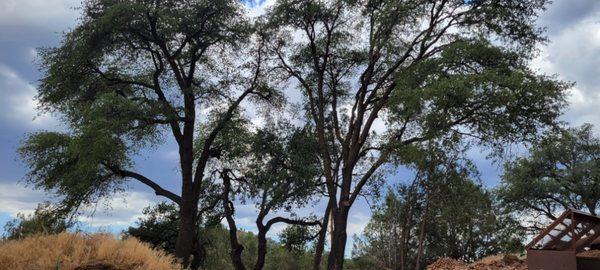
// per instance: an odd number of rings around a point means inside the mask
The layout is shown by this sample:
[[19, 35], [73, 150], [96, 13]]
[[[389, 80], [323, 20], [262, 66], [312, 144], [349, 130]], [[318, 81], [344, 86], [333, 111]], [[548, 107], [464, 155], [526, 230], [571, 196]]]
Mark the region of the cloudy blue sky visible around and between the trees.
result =
[[[248, 12], [261, 14], [275, 0], [248, 0]], [[23, 182], [26, 167], [16, 149], [28, 133], [40, 130], [62, 130], [56, 116], [37, 111], [36, 85], [41, 77], [36, 64], [36, 48], [57, 46], [61, 33], [72, 29], [78, 18], [74, 0], [0, 0], [0, 226], [17, 213], [31, 213], [36, 205], [52, 199]], [[569, 90], [569, 107], [562, 120], [571, 125], [591, 123], [600, 130], [600, 1], [555, 0], [544, 11], [539, 24], [547, 28], [550, 42], [540, 47], [531, 67], [540, 73], [554, 74], [574, 82]], [[494, 187], [502, 173], [499, 165], [485, 159], [477, 150], [470, 158], [479, 167], [485, 186]], [[177, 154], [172, 142], [142, 153], [136, 158], [137, 170], [176, 191]], [[395, 175], [399, 181], [403, 174]], [[107, 199], [80, 221], [88, 231], [119, 232], [134, 224], [141, 210], [157, 202], [146, 187], [129, 184], [126, 193]], [[109, 205], [109, 207], [106, 207]], [[323, 205], [315, 210], [320, 215]], [[253, 205], [237, 206], [240, 227], [255, 230]], [[370, 207], [359, 202], [351, 211], [349, 235], [360, 233], [371, 215]], [[281, 227], [274, 228], [274, 236]], [[1, 229], [0, 229], [1, 232]], [[351, 239], [351, 237], [350, 237]], [[348, 252], [352, 244], [348, 244]]]

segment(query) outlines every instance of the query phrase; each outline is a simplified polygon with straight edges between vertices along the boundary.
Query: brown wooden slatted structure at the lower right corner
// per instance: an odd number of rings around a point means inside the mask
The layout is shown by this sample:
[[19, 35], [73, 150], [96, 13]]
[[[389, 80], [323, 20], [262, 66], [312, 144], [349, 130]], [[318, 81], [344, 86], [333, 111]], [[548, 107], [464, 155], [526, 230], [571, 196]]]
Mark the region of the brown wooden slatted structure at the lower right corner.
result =
[[527, 267], [529, 270], [598, 270], [600, 258], [578, 256], [589, 252], [598, 241], [600, 217], [568, 209], [527, 245]]

